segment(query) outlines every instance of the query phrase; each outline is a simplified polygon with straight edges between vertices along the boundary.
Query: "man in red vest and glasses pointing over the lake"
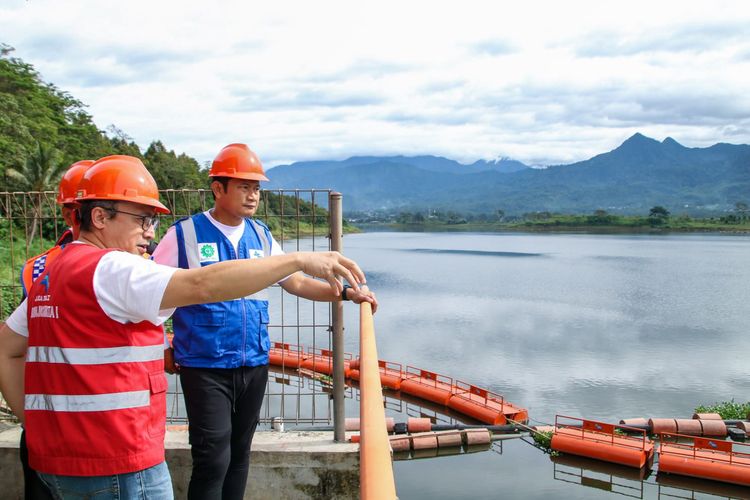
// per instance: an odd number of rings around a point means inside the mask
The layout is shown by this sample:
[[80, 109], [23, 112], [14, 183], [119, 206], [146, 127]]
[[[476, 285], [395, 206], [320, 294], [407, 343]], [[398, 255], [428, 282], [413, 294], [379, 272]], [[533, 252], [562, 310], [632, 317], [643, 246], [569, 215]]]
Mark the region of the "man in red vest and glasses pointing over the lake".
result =
[[0, 328], [0, 391], [29, 431], [29, 463], [58, 498], [171, 499], [164, 462], [167, 381], [161, 324], [176, 307], [256, 293], [297, 271], [364, 274], [337, 252], [176, 269], [141, 256], [159, 201], [137, 158], [109, 156], [83, 176], [81, 233]]

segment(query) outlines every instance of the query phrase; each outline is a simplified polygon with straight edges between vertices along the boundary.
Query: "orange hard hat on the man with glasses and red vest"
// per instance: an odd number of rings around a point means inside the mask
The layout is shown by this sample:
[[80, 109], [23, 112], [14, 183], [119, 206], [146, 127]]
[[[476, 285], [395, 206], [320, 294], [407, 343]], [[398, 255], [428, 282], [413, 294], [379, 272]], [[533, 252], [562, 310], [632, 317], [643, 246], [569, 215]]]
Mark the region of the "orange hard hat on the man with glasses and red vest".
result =
[[99, 158], [83, 174], [76, 201], [130, 201], [154, 207], [168, 214], [159, 201], [159, 188], [143, 162], [133, 156], [113, 155]]

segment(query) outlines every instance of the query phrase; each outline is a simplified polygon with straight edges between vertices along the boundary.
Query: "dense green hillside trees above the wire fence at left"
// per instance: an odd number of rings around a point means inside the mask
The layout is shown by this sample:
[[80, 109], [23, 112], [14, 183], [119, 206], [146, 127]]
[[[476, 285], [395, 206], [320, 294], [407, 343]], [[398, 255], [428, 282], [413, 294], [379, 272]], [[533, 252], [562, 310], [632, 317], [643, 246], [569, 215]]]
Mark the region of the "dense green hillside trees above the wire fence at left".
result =
[[[111, 154], [142, 159], [162, 189], [206, 186], [205, 172], [195, 159], [177, 155], [159, 140], [144, 154], [114, 125], [99, 130], [82, 102], [44, 82], [31, 64], [12, 57], [12, 52], [0, 44], [0, 191], [54, 190], [67, 166]], [[23, 173], [40, 151], [49, 153], [60, 168], [50, 171], [54, 175], [43, 184], [31, 185], [14, 172]]]

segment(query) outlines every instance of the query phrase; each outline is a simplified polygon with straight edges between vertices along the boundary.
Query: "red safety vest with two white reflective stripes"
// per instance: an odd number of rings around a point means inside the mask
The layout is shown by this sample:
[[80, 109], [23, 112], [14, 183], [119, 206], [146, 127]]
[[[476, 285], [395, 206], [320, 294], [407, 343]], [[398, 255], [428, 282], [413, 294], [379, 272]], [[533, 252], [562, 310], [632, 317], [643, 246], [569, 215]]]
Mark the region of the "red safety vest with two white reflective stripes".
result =
[[164, 333], [99, 306], [94, 271], [109, 251], [66, 245], [29, 293], [24, 410], [40, 472], [102, 476], [164, 461]]

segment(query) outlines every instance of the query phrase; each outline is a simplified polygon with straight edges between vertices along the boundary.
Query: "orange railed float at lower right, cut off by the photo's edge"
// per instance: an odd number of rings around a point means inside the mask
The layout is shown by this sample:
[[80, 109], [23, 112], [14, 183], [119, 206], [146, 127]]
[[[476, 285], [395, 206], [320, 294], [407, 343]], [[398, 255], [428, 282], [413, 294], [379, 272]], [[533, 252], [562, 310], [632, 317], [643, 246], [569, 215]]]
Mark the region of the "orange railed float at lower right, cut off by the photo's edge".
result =
[[[690, 440], [690, 443], [677, 440]], [[674, 442], [668, 442], [674, 440]], [[744, 451], [739, 451], [738, 448]], [[750, 486], [750, 445], [661, 434], [659, 472]]]

